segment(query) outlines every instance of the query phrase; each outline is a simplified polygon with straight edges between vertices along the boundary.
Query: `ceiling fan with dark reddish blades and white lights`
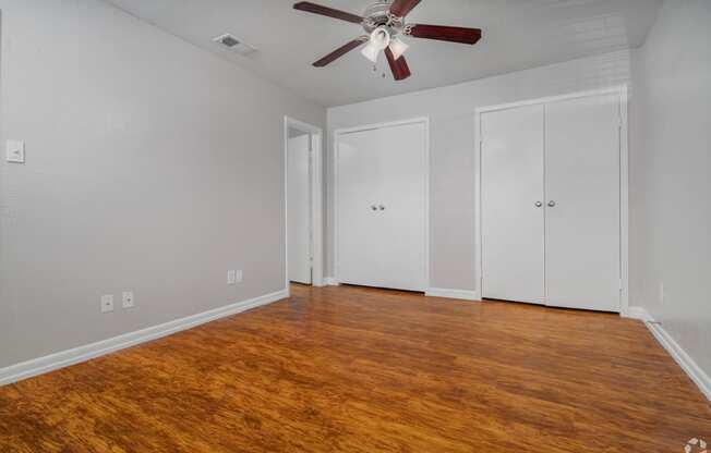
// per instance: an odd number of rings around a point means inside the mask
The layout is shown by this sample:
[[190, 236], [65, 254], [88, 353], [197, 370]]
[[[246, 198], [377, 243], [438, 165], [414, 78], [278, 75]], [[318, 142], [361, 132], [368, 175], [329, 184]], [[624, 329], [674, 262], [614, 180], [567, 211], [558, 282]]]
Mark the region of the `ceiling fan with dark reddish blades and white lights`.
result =
[[385, 52], [387, 62], [393, 71], [393, 76], [396, 81], [403, 81], [411, 75], [410, 68], [402, 56], [409, 46], [399, 36], [437, 39], [473, 46], [481, 39], [482, 35], [479, 28], [406, 23], [405, 17], [420, 1], [422, 0], [378, 0], [367, 7], [362, 16], [323, 7], [310, 1], [300, 1], [293, 8], [296, 10], [359, 24], [366, 33], [366, 35], [353, 39], [316, 61], [313, 63], [314, 66], [323, 68], [333, 63], [351, 50], [356, 50], [367, 42], [367, 46], [361, 53], [373, 63], [376, 63], [379, 53], [382, 51]]

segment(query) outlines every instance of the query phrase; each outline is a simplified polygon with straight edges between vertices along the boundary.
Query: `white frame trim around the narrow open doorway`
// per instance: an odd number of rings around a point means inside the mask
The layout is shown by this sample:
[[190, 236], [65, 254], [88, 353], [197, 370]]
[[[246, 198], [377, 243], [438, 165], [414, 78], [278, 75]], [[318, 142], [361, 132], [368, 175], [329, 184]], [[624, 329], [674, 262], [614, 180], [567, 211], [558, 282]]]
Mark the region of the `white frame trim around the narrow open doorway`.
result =
[[289, 291], [289, 130], [297, 130], [311, 135], [311, 246], [313, 261], [312, 285], [324, 285], [324, 183], [323, 183], [323, 147], [324, 133], [321, 127], [284, 118], [284, 259], [285, 287]]

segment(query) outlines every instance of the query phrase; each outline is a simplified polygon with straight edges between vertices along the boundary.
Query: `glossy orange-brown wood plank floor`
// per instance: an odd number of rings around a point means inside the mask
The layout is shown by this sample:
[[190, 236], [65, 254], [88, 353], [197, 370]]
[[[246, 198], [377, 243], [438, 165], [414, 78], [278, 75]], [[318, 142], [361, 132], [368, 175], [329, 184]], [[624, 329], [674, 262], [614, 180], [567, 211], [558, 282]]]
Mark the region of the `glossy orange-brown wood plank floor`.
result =
[[708, 402], [643, 325], [358, 287], [0, 389], [0, 452], [683, 452]]

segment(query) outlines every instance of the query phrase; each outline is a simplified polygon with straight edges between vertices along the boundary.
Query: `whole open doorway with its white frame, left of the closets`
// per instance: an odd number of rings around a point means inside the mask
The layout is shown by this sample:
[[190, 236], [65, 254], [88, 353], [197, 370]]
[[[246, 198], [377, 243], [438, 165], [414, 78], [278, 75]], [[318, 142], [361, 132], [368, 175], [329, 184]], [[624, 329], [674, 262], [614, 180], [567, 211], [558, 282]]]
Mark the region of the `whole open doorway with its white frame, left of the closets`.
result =
[[323, 286], [322, 130], [285, 119], [286, 276]]

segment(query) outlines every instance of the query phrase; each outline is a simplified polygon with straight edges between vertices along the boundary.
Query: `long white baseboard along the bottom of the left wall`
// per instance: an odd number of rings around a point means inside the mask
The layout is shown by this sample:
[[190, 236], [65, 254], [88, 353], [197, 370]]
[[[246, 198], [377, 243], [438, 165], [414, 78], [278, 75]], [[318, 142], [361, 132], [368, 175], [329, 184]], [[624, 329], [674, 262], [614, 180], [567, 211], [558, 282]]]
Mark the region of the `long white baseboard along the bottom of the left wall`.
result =
[[62, 351], [46, 357], [36, 358], [22, 364], [12, 365], [0, 369], [0, 385], [17, 382], [35, 376], [44, 375], [60, 368], [65, 368], [82, 362], [89, 360], [141, 343], [157, 340], [182, 330], [214, 321], [219, 318], [240, 314], [252, 308], [272, 304], [289, 297], [289, 290], [254, 297], [249, 301], [238, 302], [214, 310], [204, 311], [186, 318], [177, 319], [159, 326], [149, 327], [97, 343], [79, 346], [73, 350]]

